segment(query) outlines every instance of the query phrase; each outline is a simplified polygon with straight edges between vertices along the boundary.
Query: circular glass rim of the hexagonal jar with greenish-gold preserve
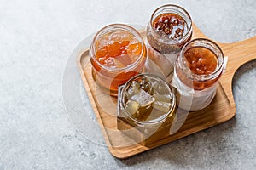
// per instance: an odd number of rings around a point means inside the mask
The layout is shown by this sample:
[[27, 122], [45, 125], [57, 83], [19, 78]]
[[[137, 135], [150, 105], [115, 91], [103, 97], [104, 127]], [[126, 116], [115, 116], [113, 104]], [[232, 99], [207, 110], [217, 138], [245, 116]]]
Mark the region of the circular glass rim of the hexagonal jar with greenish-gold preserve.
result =
[[[160, 116], [160, 117], [155, 118], [155, 119], [150, 120], [150, 121], [144, 121], [144, 122], [139, 121], [135, 117], [131, 116], [129, 114], [129, 112], [125, 109], [125, 91], [127, 90], [127, 88], [130, 87], [132, 81], [141, 79], [143, 77], [146, 77], [149, 80], [154, 80], [154, 81], [157, 81], [158, 83], [164, 84], [165, 88], [168, 89], [168, 91], [169, 91], [169, 94], [171, 96], [171, 101], [172, 101], [172, 105], [171, 105], [170, 109], [163, 116]], [[164, 122], [166, 120], [166, 117], [169, 116], [169, 114], [174, 110], [175, 105], [176, 105], [176, 97], [175, 97], [175, 94], [174, 94], [172, 88], [170, 87], [169, 83], [166, 82], [161, 77], [158, 77], [158, 76], [156, 76], [154, 74], [150, 74], [150, 73], [138, 74], [137, 76], [132, 77], [128, 82], [125, 83], [125, 85], [123, 85], [123, 88], [121, 89], [119, 95], [120, 95], [120, 101], [119, 102], [120, 102], [121, 107], [124, 109], [125, 116], [130, 118], [132, 122], [136, 122], [137, 125], [141, 125], [141, 126], [143, 126], [143, 125], [151, 125], [152, 126], [152, 125], [158, 124], [160, 122]]]

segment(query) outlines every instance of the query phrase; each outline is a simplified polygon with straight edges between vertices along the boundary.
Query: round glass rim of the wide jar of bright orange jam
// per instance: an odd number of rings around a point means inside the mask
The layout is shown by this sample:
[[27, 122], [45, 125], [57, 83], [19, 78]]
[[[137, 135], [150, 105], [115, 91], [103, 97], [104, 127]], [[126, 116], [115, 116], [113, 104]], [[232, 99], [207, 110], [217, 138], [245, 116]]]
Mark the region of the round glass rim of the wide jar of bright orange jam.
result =
[[[103, 35], [106, 35], [111, 32], [113, 33], [115, 31], [126, 31], [127, 33], [131, 33], [132, 36], [136, 37], [137, 42], [142, 43], [142, 50], [141, 50], [140, 54], [138, 54], [137, 60], [132, 62], [130, 65], [127, 65], [127, 66], [121, 67], [121, 68], [113, 68], [113, 67], [109, 67], [107, 65], [102, 65], [102, 63], [100, 63], [95, 57], [96, 56], [96, 47], [95, 47], [96, 40], [99, 37], [102, 37]], [[111, 40], [109, 40], [109, 42], [111, 42]], [[96, 33], [95, 37], [93, 38], [93, 41], [90, 45], [89, 51], [90, 51], [90, 59], [93, 59], [97, 65], [100, 65], [103, 69], [108, 70], [108, 71], [131, 70], [133, 67], [136, 67], [138, 63], [140, 63], [140, 61], [143, 57], [143, 54], [144, 53], [146, 54], [146, 48], [145, 48], [145, 44], [143, 41], [143, 37], [141, 37], [140, 33], [135, 28], [125, 25], [125, 24], [111, 24], [108, 26], [104, 26], [100, 31], [98, 31]]]

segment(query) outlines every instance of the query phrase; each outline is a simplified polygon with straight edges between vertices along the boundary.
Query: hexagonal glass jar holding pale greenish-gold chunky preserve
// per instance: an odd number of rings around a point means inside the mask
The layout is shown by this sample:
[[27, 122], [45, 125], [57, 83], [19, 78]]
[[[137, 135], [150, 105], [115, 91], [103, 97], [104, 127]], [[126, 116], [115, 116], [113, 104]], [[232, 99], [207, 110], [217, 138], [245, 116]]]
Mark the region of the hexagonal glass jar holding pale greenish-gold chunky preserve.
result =
[[139, 74], [119, 88], [117, 127], [143, 145], [170, 134], [177, 111], [176, 92], [154, 74]]

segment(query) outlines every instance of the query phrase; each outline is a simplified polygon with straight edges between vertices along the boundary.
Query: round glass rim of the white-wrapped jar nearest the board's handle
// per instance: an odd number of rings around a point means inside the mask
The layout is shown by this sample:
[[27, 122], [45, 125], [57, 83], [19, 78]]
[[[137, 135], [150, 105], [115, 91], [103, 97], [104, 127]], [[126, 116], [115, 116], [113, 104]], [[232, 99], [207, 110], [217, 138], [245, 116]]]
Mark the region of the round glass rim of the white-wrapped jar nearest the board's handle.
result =
[[[189, 49], [189, 48], [195, 48], [195, 47], [202, 47], [202, 48], [207, 48], [212, 51], [213, 54], [218, 59], [218, 65], [215, 71], [213, 71], [210, 74], [207, 75], [198, 75], [193, 73], [187, 63], [187, 59], [184, 57], [184, 53]], [[183, 68], [182, 71], [185, 75], [187, 75], [190, 79], [196, 80], [196, 81], [206, 81], [209, 79], [212, 79], [214, 77], [217, 77], [224, 68], [224, 54], [222, 49], [218, 46], [216, 42], [212, 42], [212, 40], [206, 39], [206, 38], [196, 38], [190, 42], [187, 42], [181, 52], [179, 53], [178, 58], [181, 59], [182, 62], [179, 62], [179, 67]]]

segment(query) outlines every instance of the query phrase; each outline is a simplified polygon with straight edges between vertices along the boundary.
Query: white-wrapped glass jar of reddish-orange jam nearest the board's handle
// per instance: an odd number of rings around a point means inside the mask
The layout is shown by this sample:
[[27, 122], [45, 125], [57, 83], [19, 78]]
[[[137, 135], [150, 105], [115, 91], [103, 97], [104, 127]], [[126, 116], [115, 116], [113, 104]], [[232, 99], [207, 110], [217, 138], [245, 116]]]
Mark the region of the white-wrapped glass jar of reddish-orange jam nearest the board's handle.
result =
[[212, 102], [224, 70], [224, 54], [218, 44], [198, 38], [186, 43], [175, 65], [172, 85], [192, 98], [190, 110], [201, 110]]

